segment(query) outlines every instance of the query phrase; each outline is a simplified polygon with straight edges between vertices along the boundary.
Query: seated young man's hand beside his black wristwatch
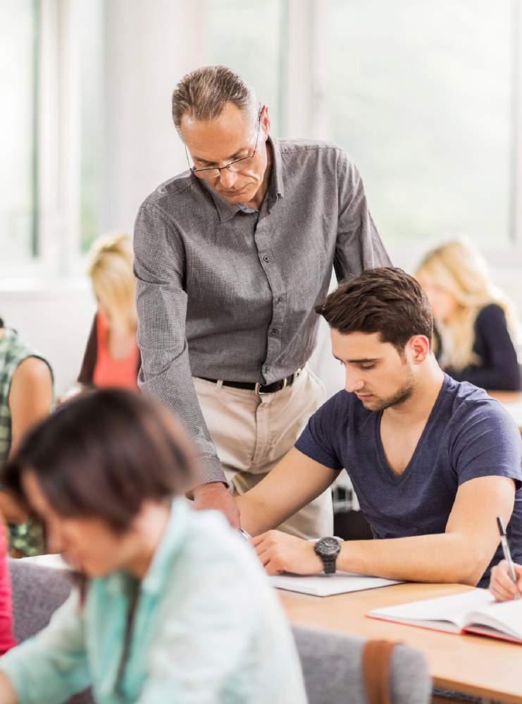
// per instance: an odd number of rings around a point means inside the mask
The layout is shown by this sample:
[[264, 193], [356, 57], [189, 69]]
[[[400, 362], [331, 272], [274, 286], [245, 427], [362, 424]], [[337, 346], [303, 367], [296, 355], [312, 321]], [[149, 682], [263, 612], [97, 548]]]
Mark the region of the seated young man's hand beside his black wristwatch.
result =
[[268, 530], [253, 538], [252, 545], [267, 574], [319, 574], [323, 571], [323, 562], [313, 550], [315, 543], [309, 540], [280, 530]]

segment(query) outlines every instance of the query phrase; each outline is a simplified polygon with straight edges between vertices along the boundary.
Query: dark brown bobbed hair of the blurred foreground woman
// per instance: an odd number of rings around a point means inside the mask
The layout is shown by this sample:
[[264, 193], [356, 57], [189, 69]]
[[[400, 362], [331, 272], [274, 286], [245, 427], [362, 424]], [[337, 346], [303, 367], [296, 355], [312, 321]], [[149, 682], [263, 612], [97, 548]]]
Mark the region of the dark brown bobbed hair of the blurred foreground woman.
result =
[[144, 499], [169, 499], [194, 485], [194, 452], [157, 403], [103, 389], [65, 403], [35, 426], [0, 471], [4, 490], [27, 506], [25, 471], [35, 474], [61, 516], [101, 518], [123, 531]]

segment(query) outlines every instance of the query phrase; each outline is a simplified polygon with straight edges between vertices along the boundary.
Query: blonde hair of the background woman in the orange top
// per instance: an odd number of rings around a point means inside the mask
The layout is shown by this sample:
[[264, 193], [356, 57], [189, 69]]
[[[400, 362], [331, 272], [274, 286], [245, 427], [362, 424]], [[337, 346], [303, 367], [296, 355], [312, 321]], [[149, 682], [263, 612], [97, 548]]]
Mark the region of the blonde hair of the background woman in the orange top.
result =
[[111, 325], [126, 332], [137, 324], [132, 240], [125, 233], [106, 235], [89, 252], [87, 274], [95, 296], [111, 313]]

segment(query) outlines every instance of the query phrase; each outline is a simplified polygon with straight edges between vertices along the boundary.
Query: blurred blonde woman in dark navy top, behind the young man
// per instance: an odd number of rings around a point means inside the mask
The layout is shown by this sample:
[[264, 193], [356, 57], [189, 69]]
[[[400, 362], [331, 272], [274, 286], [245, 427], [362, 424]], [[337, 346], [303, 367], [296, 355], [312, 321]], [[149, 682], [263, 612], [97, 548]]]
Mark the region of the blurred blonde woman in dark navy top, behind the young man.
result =
[[442, 368], [484, 389], [520, 389], [514, 315], [482, 255], [464, 242], [449, 242], [425, 255], [416, 278], [433, 309]]

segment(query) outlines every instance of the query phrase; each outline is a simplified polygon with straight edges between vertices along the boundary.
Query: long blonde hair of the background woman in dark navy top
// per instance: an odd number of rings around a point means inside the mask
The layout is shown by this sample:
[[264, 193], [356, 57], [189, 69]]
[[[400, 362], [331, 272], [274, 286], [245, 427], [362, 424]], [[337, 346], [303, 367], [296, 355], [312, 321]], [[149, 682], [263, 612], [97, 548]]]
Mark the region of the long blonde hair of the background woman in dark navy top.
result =
[[427, 274], [435, 286], [456, 300], [451, 320], [437, 321], [442, 338], [442, 366], [461, 371], [480, 365], [473, 352], [475, 322], [485, 305], [496, 303], [504, 311], [511, 337], [516, 338], [516, 322], [509, 299], [492, 284], [484, 257], [464, 241], [448, 242], [430, 250], [421, 261], [416, 276]]

